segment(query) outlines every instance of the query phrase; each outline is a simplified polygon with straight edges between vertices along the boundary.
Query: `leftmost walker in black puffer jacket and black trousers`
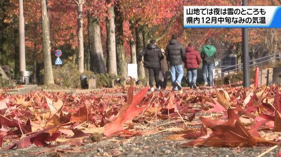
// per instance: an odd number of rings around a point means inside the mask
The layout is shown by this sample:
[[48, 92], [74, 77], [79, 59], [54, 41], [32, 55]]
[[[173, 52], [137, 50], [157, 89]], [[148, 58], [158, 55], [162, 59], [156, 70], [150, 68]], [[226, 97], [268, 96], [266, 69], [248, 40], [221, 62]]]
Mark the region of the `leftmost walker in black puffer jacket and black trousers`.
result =
[[138, 61], [142, 61], [144, 56], [144, 67], [148, 69], [149, 72], [149, 85], [151, 91], [154, 91], [153, 87], [153, 77], [155, 79], [156, 91], [159, 91], [159, 69], [160, 60], [163, 59], [161, 49], [156, 45], [155, 40], [151, 40], [147, 47], [139, 53]]

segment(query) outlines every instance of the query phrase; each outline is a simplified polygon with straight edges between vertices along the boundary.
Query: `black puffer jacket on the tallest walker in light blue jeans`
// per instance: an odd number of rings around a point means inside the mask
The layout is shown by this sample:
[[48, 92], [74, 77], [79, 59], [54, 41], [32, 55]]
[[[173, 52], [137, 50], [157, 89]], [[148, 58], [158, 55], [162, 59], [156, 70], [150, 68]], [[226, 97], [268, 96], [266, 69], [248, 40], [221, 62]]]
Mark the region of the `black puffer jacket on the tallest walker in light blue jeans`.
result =
[[167, 60], [170, 61], [171, 66], [178, 66], [185, 60], [185, 51], [183, 46], [175, 39], [170, 41], [166, 47]]

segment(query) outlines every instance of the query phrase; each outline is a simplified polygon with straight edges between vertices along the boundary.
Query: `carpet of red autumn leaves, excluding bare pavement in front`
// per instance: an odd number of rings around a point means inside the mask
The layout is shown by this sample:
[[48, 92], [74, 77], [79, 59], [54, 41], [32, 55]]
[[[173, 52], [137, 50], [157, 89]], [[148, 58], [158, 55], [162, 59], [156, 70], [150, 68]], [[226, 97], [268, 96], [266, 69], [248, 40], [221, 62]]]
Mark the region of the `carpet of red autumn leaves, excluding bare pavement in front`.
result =
[[[263, 134], [281, 130], [281, 95], [278, 86], [255, 90], [232, 88], [148, 94], [147, 90], [148, 87], [134, 95], [131, 84], [127, 97], [106, 96], [104, 92], [87, 95], [44, 92], [16, 97], [2, 95], [0, 146], [11, 135], [20, 138], [10, 148], [25, 148], [31, 143], [39, 147], [51, 146], [49, 142], [58, 138], [59, 141], [63, 141], [61, 138], [81, 141], [79, 138], [90, 136], [104, 126], [99, 133], [107, 137], [157, 132], [157, 129], [140, 132], [134, 128], [134, 122], [148, 121], [145, 117], [150, 120], [155, 117], [184, 120], [181, 122], [184, 129], [182, 134], [175, 134], [171, 139], [194, 139], [186, 146], [237, 147], [278, 142], [263, 139], [260, 134], [261, 130]], [[124, 89], [117, 90], [121, 91]], [[95, 97], [98, 94], [100, 96]], [[201, 122], [194, 122], [198, 115], [207, 116], [199, 117]], [[133, 122], [128, 128], [124, 127], [125, 122], [131, 120]], [[189, 128], [188, 124], [199, 124], [201, 128], [186, 129]]]

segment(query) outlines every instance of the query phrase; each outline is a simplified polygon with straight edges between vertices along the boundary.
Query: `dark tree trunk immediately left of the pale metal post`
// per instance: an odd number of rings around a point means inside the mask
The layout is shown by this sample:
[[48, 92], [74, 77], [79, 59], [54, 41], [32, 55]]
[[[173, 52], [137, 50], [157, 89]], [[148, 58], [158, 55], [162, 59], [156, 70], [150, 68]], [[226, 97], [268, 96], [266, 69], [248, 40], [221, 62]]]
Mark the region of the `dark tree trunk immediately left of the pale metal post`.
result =
[[14, 29], [14, 46], [15, 46], [15, 75], [14, 78], [19, 78], [19, 37], [18, 37], [18, 28]]

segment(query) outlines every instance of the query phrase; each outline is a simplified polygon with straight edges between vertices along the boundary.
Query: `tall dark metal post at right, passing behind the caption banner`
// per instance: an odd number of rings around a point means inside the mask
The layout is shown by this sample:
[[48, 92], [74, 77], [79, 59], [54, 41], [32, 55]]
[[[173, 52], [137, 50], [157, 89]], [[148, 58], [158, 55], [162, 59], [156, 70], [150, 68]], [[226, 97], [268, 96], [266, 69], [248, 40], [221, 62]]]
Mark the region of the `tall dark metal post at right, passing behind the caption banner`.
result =
[[[243, 0], [243, 6], [247, 6], [247, 0]], [[248, 29], [242, 28], [242, 41], [243, 41], [243, 85], [244, 87], [250, 86], [250, 64], [249, 64], [249, 51], [248, 51]]]

